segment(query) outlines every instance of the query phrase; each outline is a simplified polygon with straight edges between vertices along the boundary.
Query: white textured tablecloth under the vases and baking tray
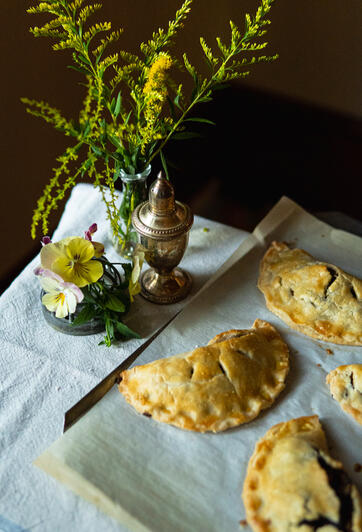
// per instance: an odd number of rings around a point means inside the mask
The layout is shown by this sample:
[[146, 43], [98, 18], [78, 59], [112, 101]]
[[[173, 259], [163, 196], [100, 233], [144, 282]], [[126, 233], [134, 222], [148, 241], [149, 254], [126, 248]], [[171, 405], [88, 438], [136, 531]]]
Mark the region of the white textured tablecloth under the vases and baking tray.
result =
[[[108, 222], [99, 193], [77, 185], [53, 241], [83, 236], [96, 222], [95, 240], [111, 261], [120, 259], [108, 238]], [[206, 229], [206, 230], [205, 230]], [[64, 413], [175, 315], [215, 274], [247, 235], [200, 217], [190, 233], [181, 262], [194, 285], [181, 303], [158, 306], [137, 296], [127, 323], [141, 340], [99, 347], [102, 334], [67, 336], [44, 321], [38, 280], [39, 257], [23, 270], [0, 298], [0, 532], [115, 531], [119, 524], [73, 495], [32, 465], [56, 440]]]

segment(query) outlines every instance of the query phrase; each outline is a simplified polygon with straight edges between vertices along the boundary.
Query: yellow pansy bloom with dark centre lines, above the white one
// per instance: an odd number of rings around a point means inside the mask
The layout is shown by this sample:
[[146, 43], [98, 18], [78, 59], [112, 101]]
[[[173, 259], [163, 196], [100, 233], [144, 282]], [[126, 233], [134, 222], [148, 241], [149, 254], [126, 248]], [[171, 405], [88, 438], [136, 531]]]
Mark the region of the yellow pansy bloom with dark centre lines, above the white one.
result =
[[40, 252], [41, 265], [57, 273], [66, 282], [79, 287], [95, 283], [103, 275], [103, 266], [95, 256], [89, 240], [69, 237], [56, 244], [45, 245]]

